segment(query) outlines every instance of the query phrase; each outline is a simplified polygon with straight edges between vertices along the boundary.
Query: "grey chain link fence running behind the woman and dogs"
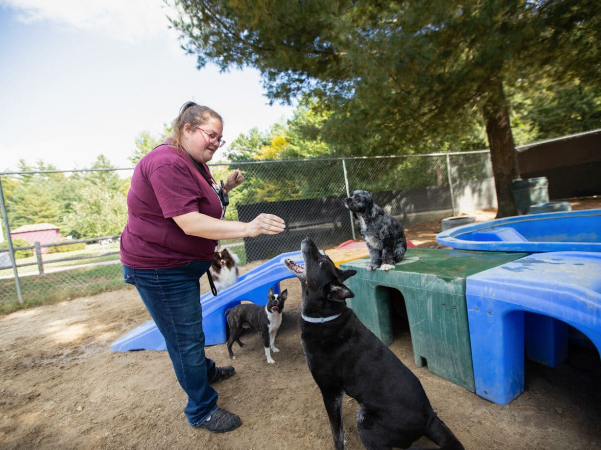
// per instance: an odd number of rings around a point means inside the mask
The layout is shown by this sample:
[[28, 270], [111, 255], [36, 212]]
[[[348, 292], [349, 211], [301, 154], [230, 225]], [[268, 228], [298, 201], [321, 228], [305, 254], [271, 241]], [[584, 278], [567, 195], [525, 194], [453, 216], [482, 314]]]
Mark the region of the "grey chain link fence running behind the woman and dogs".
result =
[[[241, 265], [296, 251], [305, 236], [322, 248], [360, 239], [343, 204], [357, 189], [369, 191], [404, 226], [496, 206], [488, 151], [210, 166], [218, 181], [233, 169], [246, 179], [230, 193], [227, 220], [250, 221], [268, 212], [287, 224], [276, 236], [221, 241]], [[126, 286], [119, 233], [127, 219], [131, 174], [132, 169], [0, 173], [0, 313]], [[44, 207], [62, 208], [53, 216], [61, 223], [44, 219], [52, 214]]]

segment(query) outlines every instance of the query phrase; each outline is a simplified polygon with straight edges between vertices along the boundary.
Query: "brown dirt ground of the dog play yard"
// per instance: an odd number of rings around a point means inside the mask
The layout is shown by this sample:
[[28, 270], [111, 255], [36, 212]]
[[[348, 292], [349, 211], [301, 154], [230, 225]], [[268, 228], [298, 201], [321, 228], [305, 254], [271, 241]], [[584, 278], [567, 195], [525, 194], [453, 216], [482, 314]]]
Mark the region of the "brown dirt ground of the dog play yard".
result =
[[[572, 206], [601, 208], [601, 199], [572, 200]], [[476, 215], [489, 220], [495, 212]], [[414, 244], [428, 248], [436, 247], [439, 231], [440, 221], [406, 229]], [[290, 278], [281, 288], [288, 289], [288, 300], [276, 364], [267, 364], [259, 335], [250, 334], [243, 338], [245, 349], [234, 347], [236, 374], [215, 386], [219, 406], [242, 418], [242, 426], [227, 434], [186, 423], [186, 397], [166, 352], [111, 352], [113, 341], [150, 319], [134, 289], [0, 317], [0, 449], [333, 448], [302, 352], [299, 282]], [[569, 360], [557, 368], [527, 361], [525, 392], [499, 406], [416, 367], [408, 328], [395, 329], [391, 349], [418, 376], [466, 449], [601, 448], [601, 362], [595, 350], [570, 347]], [[206, 352], [218, 365], [231, 364], [225, 344]], [[355, 415], [356, 402], [346, 397], [349, 450], [363, 448]], [[435, 447], [425, 438], [418, 443]]]

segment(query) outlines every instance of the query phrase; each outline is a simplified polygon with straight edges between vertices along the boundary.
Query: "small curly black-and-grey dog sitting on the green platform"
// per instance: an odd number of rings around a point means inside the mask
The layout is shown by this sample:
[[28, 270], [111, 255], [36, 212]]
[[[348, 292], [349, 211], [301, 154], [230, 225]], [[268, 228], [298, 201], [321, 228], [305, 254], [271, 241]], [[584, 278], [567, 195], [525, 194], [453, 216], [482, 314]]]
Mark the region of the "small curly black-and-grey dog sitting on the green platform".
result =
[[376, 205], [367, 191], [353, 191], [344, 206], [359, 218], [359, 232], [370, 251], [367, 269], [388, 271], [403, 260], [407, 239], [401, 223]]

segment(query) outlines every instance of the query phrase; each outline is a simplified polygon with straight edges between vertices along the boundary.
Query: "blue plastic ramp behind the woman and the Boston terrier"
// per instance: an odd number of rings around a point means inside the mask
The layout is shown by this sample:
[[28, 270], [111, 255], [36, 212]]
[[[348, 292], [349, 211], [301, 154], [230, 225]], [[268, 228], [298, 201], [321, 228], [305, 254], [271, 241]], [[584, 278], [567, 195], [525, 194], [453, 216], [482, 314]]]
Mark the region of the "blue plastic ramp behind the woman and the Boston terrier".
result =
[[[207, 292], [200, 297], [203, 307], [203, 331], [205, 345], [223, 344], [227, 341], [225, 311], [242, 301], [257, 305], [267, 303], [267, 292], [272, 287], [279, 293], [279, 282], [294, 277], [284, 265], [284, 260], [303, 263], [300, 251], [282, 253], [260, 266], [240, 275], [234, 286], [224, 289], [213, 296]], [[111, 344], [112, 352], [130, 352], [133, 350], [166, 350], [165, 339], [157, 329], [154, 320], [142, 323], [126, 335]]]

